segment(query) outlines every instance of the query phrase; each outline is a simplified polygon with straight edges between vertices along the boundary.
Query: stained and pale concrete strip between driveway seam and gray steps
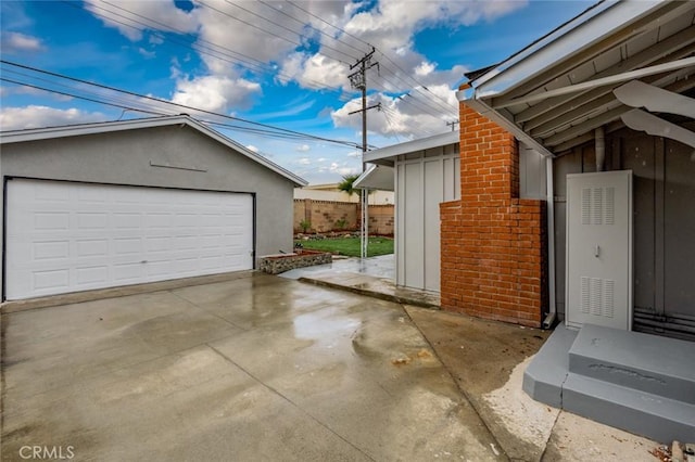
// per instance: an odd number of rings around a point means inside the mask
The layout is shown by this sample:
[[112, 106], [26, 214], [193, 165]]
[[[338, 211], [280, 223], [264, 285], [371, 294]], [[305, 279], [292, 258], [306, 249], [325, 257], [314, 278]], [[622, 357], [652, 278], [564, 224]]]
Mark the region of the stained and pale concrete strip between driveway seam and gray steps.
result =
[[649, 451], [657, 441], [534, 401], [522, 390], [523, 371], [549, 332], [405, 309], [510, 460], [655, 460]]

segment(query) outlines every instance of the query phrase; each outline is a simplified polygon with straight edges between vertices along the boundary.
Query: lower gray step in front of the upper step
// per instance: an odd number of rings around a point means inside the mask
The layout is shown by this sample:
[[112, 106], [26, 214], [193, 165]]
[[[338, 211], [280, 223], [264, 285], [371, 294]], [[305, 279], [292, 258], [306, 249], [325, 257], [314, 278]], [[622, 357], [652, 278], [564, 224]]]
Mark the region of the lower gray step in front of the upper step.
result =
[[657, 441], [695, 438], [695, 405], [574, 373], [563, 385], [563, 409]]

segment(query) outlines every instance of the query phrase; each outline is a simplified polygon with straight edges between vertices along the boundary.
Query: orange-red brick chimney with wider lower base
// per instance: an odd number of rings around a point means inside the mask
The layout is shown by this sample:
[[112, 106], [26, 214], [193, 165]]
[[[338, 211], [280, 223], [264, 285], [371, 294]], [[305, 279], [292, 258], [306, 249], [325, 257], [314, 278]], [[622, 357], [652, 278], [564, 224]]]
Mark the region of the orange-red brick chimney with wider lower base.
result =
[[519, 197], [515, 138], [460, 104], [459, 201], [440, 205], [442, 309], [540, 326], [545, 203]]

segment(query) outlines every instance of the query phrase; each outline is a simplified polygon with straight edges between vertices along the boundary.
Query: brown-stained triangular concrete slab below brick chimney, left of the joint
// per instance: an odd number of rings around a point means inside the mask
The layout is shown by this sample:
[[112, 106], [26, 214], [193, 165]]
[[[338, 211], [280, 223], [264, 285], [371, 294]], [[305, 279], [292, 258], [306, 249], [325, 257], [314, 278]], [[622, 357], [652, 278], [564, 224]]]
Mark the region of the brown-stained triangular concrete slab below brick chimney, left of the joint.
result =
[[[549, 333], [410, 306], [406, 311], [509, 459], [540, 460], [557, 410], [523, 395], [523, 367], [519, 364], [541, 348]], [[522, 395], [526, 408], [518, 408], [519, 402], [511, 401]], [[540, 415], [539, 422], [543, 422], [533, 434], [518, 432], [525, 424], [527, 408], [533, 409], [533, 414]]]

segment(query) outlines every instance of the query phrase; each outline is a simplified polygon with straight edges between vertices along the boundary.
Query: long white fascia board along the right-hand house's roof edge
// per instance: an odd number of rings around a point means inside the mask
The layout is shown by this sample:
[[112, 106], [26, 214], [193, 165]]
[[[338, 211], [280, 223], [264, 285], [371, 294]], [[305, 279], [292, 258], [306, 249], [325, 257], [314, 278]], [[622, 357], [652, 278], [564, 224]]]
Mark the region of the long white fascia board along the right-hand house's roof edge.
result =
[[[662, 3], [660, 0], [605, 1], [473, 80], [473, 98], [505, 93], [558, 61], [615, 33], [622, 25], [658, 9]], [[466, 98], [465, 93], [456, 93], [459, 101], [464, 101], [462, 98]]]

